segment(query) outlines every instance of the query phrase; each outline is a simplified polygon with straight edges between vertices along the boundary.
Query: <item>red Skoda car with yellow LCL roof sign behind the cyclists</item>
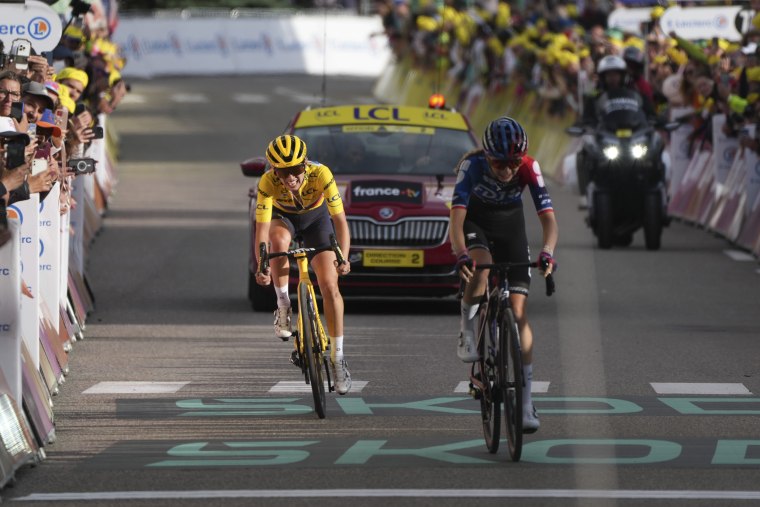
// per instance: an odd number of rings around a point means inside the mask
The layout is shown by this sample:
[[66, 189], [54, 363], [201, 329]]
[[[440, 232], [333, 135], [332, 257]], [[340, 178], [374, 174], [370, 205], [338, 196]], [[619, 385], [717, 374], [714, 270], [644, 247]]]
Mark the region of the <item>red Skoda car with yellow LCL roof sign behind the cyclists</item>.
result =
[[[335, 175], [351, 231], [351, 274], [344, 296], [444, 297], [457, 292], [449, 244], [454, 168], [477, 147], [460, 113], [394, 105], [301, 111], [286, 129], [306, 142], [307, 156]], [[263, 157], [243, 174], [268, 170]], [[255, 281], [256, 186], [251, 188], [248, 295], [255, 310], [275, 307], [271, 287]], [[291, 282], [297, 282], [293, 272]]]

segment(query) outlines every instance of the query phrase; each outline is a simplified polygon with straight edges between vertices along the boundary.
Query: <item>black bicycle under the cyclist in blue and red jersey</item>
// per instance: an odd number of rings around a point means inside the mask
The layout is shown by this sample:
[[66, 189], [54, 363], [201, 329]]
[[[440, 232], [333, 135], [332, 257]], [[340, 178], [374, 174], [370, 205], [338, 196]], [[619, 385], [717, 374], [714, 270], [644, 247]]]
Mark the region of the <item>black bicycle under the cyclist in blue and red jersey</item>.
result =
[[[501, 405], [507, 430], [507, 445], [512, 461], [520, 461], [523, 442], [523, 389], [520, 331], [509, 301], [509, 268], [538, 267], [535, 262], [477, 265], [489, 269], [486, 292], [478, 309], [478, 352], [472, 364], [470, 394], [480, 400], [483, 436], [491, 453], [499, 450]], [[462, 289], [464, 286], [462, 286]], [[460, 291], [461, 294], [462, 291]], [[554, 278], [546, 277], [546, 295], [554, 293]]]

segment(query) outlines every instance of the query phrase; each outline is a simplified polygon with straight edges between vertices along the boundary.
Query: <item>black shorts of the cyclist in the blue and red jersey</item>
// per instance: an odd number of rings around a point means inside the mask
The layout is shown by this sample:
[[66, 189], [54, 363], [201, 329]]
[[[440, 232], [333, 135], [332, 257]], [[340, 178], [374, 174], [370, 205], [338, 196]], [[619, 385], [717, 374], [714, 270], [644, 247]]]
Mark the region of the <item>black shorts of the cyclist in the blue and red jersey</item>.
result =
[[[525, 233], [522, 206], [507, 209], [467, 210], [464, 237], [467, 248], [484, 248], [494, 262], [530, 262], [530, 247]], [[530, 268], [510, 268], [509, 291], [528, 295]]]

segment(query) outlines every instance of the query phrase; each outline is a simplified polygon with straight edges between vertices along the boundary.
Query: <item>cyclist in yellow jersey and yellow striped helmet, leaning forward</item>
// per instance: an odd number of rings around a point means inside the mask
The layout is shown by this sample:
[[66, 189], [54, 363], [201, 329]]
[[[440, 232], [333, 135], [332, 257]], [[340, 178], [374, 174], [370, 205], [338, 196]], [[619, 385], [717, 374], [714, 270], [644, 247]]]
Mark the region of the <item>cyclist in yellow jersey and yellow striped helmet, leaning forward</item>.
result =
[[[275, 138], [267, 147], [267, 161], [272, 168], [259, 180], [256, 197], [256, 243], [270, 243], [271, 251], [288, 249], [295, 236], [303, 238], [305, 247], [330, 245], [335, 232], [341, 250], [348, 255], [351, 237], [343, 200], [332, 172], [327, 166], [306, 158], [306, 143], [293, 135]], [[260, 239], [261, 238], [261, 239]], [[256, 249], [254, 249], [256, 250]], [[258, 251], [256, 251], [258, 264]], [[327, 332], [330, 334], [330, 362], [335, 390], [346, 394], [351, 388], [351, 374], [343, 358], [343, 297], [338, 276], [351, 271], [351, 264], [338, 264], [335, 253], [316, 254], [311, 266], [317, 275], [322, 294]], [[286, 257], [270, 261], [270, 269], [256, 274], [259, 285], [274, 281], [277, 294], [274, 332], [282, 340], [290, 338], [291, 310], [288, 293], [289, 263]]]

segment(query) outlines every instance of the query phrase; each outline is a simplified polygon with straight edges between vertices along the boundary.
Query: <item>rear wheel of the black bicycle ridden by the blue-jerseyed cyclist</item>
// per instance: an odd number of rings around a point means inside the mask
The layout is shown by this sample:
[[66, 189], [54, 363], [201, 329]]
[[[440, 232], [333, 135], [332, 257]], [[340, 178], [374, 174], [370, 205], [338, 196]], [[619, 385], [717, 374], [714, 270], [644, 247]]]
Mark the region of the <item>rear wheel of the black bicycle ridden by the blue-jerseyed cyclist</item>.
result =
[[480, 415], [483, 418], [483, 437], [488, 452], [495, 454], [499, 450], [501, 436], [501, 393], [499, 371], [496, 368], [496, 345], [499, 343], [499, 328], [493, 318], [495, 305], [484, 300], [480, 303], [478, 351], [480, 360], [476, 363], [477, 374], [483, 388], [480, 393]]

